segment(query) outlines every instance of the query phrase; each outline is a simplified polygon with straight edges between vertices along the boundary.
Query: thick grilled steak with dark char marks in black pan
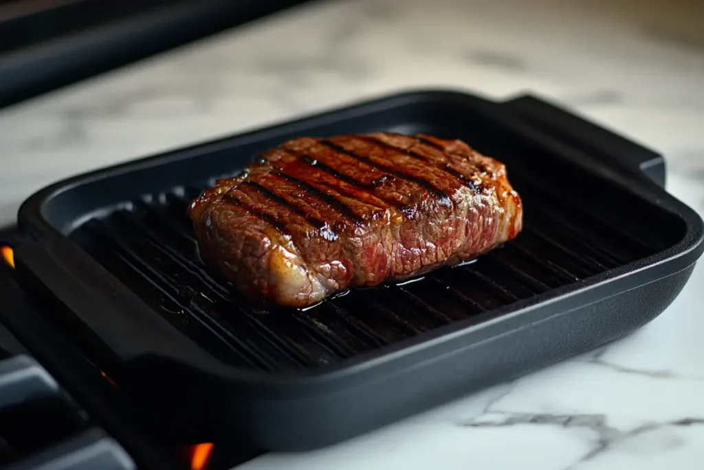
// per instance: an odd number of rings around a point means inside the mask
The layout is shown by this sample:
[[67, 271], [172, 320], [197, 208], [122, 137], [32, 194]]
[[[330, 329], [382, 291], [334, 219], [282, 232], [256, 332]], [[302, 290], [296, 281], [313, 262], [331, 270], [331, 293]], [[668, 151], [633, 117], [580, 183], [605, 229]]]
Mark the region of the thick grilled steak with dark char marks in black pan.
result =
[[189, 214], [206, 264], [250, 299], [292, 307], [467, 261], [522, 228], [502, 163], [389, 133], [285, 142]]

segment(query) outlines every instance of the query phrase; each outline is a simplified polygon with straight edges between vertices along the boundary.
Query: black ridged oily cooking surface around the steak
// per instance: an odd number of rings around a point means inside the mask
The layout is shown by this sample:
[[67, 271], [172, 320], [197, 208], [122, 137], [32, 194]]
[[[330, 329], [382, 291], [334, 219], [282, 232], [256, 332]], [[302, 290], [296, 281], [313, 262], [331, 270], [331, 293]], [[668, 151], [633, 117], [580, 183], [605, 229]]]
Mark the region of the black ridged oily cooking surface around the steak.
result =
[[201, 263], [186, 206], [200, 187], [94, 218], [73, 238], [125, 285], [220, 359], [267, 371], [309, 369], [470, 319], [665, 247], [647, 232], [578, 209], [529, 181], [517, 239], [457, 268], [359, 289], [305, 311], [251, 306]]

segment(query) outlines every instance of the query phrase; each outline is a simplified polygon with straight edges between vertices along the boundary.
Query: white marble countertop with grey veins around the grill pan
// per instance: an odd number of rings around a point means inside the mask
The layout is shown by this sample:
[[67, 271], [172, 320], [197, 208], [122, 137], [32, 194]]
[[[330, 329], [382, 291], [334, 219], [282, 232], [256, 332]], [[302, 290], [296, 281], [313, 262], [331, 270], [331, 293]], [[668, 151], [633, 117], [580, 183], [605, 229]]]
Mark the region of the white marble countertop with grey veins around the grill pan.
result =
[[[558, 101], [665, 154], [667, 189], [704, 214], [704, 8], [665, 3], [339, 0], [251, 23], [1, 111], [0, 225], [68, 175], [417, 87]], [[703, 286], [699, 266], [596, 352], [241, 469], [703, 468]]]

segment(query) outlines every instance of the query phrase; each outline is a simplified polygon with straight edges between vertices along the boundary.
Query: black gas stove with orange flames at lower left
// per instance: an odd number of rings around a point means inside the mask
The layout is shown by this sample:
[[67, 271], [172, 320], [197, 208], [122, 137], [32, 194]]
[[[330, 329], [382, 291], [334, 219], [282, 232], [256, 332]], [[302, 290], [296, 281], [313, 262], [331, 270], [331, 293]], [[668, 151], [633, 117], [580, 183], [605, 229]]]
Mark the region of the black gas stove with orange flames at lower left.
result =
[[[260, 453], [232, 443], [179, 442], [144, 419], [149, 411], [28, 302], [15, 280], [16, 237], [15, 228], [0, 231], [0, 468], [218, 470]], [[23, 325], [24, 341], [5, 319]]]

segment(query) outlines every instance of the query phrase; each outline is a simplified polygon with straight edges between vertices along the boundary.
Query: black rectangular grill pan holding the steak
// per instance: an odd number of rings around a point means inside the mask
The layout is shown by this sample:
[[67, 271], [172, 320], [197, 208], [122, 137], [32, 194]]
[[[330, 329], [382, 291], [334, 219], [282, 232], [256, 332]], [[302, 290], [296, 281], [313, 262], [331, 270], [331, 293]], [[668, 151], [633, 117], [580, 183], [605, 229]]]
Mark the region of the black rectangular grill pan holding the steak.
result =
[[[262, 309], [197, 256], [185, 208], [303, 135], [460, 138], [506, 163], [524, 232], [472, 264]], [[626, 335], [677, 296], [703, 223], [652, 151], [534, 97], [420, 91], [80, 175], [20, 208], [18, 274], [51, 321], [189, 439], [308, 450]]]

